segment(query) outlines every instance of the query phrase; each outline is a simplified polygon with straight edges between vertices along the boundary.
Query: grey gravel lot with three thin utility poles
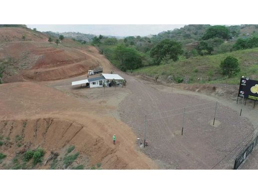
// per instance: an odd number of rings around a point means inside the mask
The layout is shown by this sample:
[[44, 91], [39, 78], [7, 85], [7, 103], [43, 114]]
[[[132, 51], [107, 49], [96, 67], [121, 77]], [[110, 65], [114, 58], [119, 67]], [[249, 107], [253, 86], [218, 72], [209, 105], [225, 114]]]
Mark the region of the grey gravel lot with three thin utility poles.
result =
[[[146, 115], [149, 146], [142, 151], [161, 169], [233, 168], [232, 157], [254, 130], [239, 112], [218, 103], [213, 126], [215, 101], [161, 92], [150, 82], [126, 74], [123, 77], [131, 94], [119, 105], [120, 117], [142, 140]], [[187, 108], [181, 135], [183, 107]]]

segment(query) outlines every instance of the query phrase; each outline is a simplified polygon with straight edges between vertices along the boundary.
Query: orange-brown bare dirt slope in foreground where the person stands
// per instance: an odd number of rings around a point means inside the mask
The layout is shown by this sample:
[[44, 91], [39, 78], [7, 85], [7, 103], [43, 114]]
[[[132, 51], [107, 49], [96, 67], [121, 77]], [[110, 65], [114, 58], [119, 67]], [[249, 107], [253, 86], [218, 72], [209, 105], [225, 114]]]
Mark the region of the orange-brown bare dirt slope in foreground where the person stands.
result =
[[[8, 142], [0, 146], [11, 161], [17, 153], [42, 147], [44, 159], [51, 151], [62, 152], [74, 145], [81, 164], [85, 156], [89, 166], [102, 164], [104, 169], [155, 169], [155, 164], [143, 153], [135, 150], [136, 139], [123, 122], [98, 112], [101, 104], [77, 100], [43, 85], [30, 82], [0, 85], [0, 135]], [[112, 107], [111, 107], [112, 108]], [[25, 123], [25, 124], [24, 124]], [[112, 136], [116, 134], [117, 144]], [[15, 137], [22, 137], [21, 146]], [[15, 154], [16, 153], [16, 154]], [[49, 168], [46, 166], [38, 168]], [[6, 163], [0, 164], [8, 166]]]

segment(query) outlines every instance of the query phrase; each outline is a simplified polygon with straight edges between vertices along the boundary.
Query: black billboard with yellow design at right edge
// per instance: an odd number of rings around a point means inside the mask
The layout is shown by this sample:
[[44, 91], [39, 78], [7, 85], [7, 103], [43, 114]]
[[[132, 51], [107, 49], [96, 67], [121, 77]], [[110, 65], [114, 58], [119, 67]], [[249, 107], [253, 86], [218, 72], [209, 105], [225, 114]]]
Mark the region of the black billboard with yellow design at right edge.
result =
[[258, 81], [241, 78], [238, 96], [258, 101]]

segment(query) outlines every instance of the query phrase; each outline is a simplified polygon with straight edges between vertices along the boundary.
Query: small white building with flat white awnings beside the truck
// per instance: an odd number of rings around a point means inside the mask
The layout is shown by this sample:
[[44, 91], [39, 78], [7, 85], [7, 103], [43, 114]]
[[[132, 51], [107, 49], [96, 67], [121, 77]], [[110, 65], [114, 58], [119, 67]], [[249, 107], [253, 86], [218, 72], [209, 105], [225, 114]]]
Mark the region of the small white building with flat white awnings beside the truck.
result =
[[120, 84], [120, 82], [122, 82], [123, 80], [124, 78], [122, 78], [118, 74], [101, 74], [100, 77], [72, 82], [71, 85], [81, 85], [82, 87], [82, 85], [85, 84], [87, 88], [96, 88], [103, 87], [103, 84], [105, 84], [106, 87], [112, 87], [114, 85]]

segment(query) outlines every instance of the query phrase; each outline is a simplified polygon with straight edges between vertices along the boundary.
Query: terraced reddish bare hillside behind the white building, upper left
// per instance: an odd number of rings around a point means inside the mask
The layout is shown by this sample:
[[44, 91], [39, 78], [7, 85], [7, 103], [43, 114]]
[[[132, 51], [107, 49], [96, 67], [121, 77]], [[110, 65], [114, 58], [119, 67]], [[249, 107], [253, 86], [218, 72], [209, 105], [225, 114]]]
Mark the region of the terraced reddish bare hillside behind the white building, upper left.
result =
[[[21, 36], [25, 34], [25, 41]], [[60, 80], [85, 74], [109, 61], [92, 46], [65, 39], [58, 46], [27, 28], [0, 28], [0, 61], [6, 64], [3, 82]], [[72, 45], [72, 46], [71, 46]]]

